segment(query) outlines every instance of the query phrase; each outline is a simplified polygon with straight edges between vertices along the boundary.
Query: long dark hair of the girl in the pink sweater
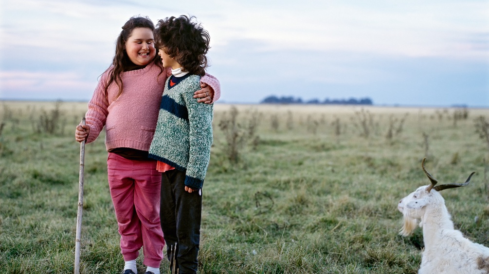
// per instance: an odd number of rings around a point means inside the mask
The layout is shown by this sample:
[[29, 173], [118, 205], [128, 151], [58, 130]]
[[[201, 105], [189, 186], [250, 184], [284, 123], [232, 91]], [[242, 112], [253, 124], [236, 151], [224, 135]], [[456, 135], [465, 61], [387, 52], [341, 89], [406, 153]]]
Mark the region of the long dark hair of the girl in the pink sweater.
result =
[[[109, 80], [105, 86], [106, 98], [108, 97], [108, 89], [112, 82], [115, 82], [117, 86], [119, 86], [119, 93], [117, 94], [116, 98], [122, 94], [124, 84], [122, 83], [121, 74], [125, 72], [129, 66], [133, 65], [133, 62], [127, 55], [125, 44], [129, 37], [131, 37], [131, 34], [135, 28], [149, 28], [152, 31], [155, 31], [155, 25], [148, 17], [132, 17], [122, 26], [122, 31], [119, 34], [119, 37], [117, 37], [115, 43], [115, 56], [112, 60], [113, 69], [111, 69], [109, 72]], [[155, 56], [154, 62], [160, 67], [161, 75], [163, 68], [161, 66], [159, 56]]]

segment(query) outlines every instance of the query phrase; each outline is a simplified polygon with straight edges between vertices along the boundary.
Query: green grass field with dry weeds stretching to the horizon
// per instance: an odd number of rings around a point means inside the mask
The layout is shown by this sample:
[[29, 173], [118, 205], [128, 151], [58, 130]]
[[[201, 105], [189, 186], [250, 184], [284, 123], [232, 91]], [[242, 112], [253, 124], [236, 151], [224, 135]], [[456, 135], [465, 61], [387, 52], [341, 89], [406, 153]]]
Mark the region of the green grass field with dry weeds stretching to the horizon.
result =
[[[0, 273], [73, 273], [87, 104], [0, 104]], [[200, 273], [417, 273], [421, 230], [398, 235], [397, 203], [429, 183], [423, 157], [440, 183], [476, 172], [442, 195], [489, 246], [483, 120], [488, 109], [216, 104]], [[122, 271], [106, 160], [102, 134], [86, 146], [82, 273]]]

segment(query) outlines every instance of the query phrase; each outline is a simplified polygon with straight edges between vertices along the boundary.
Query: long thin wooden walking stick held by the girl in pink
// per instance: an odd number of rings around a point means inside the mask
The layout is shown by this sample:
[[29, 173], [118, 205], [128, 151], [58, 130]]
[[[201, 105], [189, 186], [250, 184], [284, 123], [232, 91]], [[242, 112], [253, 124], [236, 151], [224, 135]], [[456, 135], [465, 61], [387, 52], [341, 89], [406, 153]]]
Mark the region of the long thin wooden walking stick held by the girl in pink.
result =
[[[85, 125], [85, 117], [82, 119], [82, 125]], [[84, 168], [85, 140], [80, 142], [80, 180], [78, 183], [78, 213], [76, 215], [75, 274], [80, 273], [80, 234], [82, 230]]]

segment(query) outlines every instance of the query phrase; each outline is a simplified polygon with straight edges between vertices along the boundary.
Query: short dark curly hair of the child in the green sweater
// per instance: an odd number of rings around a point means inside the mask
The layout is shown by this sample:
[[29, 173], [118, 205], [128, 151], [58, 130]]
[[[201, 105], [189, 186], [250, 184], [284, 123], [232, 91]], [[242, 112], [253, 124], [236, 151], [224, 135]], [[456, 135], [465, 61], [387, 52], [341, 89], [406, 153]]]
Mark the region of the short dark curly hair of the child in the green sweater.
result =
[[175, 59], [185, 71], [203, 76], [208, 66], [205, 54], [210, 48], [210, 37], [195, 19], [195, 16], [182, 15], [158, 20], [155, 46]]

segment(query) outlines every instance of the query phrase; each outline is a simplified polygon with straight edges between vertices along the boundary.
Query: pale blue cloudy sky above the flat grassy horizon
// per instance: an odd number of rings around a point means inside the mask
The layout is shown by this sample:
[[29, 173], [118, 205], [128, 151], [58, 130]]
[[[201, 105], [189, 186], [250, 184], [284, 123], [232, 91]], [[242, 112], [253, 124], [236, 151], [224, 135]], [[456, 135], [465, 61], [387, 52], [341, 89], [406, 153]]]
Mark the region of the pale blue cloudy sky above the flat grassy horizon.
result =
[[129, 18], [179, 15], [218, 102], [489, 107], [489, 0], [0, 0], [0, 99], [88, 101]]

